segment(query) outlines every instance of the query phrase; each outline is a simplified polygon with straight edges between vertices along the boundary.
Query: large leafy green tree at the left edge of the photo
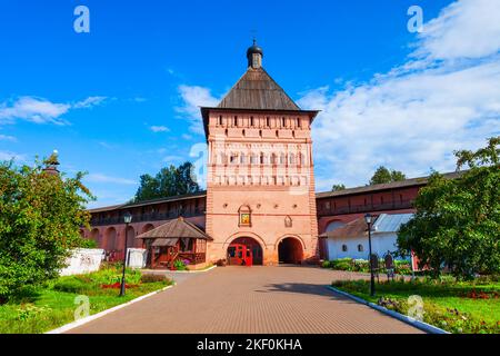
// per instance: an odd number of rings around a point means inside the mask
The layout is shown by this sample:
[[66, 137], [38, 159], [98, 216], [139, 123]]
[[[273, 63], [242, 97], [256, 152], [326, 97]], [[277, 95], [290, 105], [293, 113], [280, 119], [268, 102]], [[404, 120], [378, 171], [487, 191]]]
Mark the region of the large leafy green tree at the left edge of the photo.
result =
[[80, 227], [89, 224], [93, 197], [83, 174], [47, 172], [50, 159], [34, 167], [0, 162], [0, 301], [56, 277], [70, 250], [84, 245]]

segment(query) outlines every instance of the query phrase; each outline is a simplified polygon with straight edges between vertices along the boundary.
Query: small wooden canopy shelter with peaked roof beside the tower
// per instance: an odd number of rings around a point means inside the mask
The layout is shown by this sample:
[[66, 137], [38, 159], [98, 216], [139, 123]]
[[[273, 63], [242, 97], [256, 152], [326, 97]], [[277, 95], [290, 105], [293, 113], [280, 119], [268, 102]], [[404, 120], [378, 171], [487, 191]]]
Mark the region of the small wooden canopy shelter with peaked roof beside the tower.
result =
[[146, 241], [150, 268], [172, 268], [176, 260], [188, 260], [189, 265], [203, 264], [207, 260], [207, 240], [212, 239], [182, 217], [137, 238]]

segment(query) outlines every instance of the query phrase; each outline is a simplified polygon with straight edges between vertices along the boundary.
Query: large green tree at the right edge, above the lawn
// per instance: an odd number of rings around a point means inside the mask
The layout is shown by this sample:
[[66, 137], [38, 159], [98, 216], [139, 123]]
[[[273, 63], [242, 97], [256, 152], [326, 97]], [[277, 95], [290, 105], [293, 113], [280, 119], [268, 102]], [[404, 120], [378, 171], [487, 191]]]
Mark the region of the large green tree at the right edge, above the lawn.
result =
[[477, 151], [456, 151], [460, 178], [429, 178], [414, 201], [417, 214], [398, 234], [400, 254], [413, 250], [434, 275], [500, 273], [500, 137]]

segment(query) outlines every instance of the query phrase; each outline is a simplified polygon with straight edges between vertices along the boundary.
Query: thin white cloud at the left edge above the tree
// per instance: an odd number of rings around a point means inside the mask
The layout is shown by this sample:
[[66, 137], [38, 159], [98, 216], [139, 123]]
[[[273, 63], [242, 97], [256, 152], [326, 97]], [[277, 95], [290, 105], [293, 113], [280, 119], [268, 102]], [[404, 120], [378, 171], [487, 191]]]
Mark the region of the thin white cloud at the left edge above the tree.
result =
[[90, 108], [101, 103], [104, 97], [89, 97], [76, 103], [52, 102], [43, 98], [20, 97], [0, 102], [0, 125], [26, 120], [34, 123], [67, 125], [62, 116], [71, 109]]

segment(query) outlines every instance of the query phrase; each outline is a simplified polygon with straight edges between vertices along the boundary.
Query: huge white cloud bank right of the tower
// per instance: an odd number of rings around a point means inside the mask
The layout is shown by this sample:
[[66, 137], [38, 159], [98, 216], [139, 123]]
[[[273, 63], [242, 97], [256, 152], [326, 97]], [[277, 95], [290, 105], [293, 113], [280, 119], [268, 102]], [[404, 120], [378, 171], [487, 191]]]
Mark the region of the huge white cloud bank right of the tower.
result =
[[[317, 188], [366, 184], [379, 165], [420, 176], [500, 134], [500, 12], [460, 1], [424, 27], [406, 63], [363, 85], [321, 87], [299, 105], [313, 125]], [[480, 33], [480, 36], [479, 36]]]

